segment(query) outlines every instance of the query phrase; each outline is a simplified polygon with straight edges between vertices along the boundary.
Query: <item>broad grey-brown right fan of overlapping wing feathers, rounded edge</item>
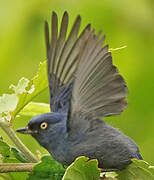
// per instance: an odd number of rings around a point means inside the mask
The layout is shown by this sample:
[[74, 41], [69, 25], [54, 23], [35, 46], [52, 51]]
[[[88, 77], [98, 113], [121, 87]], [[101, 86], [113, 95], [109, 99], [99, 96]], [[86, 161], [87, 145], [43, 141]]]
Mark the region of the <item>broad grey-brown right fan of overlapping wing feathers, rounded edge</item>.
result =
[[[112, 64], [108, 46], [102, 47], [104, 37], [91, 32], [80, 54], [80, 63], [72, 90], [69, 126], [77, 124], [77, 114], [102, 118], [118, 115], [127, 106], [128, 89], [118, 69]], [[81, 117], [83, 117], [81, 116]]]

